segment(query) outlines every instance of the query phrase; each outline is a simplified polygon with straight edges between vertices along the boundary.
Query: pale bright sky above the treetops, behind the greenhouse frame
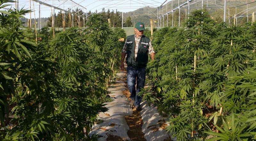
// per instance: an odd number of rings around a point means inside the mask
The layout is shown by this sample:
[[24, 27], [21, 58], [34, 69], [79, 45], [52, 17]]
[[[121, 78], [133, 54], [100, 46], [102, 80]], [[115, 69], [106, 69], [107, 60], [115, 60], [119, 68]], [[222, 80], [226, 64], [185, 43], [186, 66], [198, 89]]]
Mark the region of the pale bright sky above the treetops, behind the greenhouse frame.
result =
[[[102, 11], [102, 8], [105, 8], [107, 11], [108, 9], [112, 11], [123, 11], [123, 12], [129, 12], [134, 11], [136, 9], [150, 6], [150, 7], [157, 7], [161, 4], [166, 4], [166, 2], [169, 2], [171, 0], [40, 0], [41, 2], [51, 4], [55, 7], [59, 7], [61, 9], [67, 10], [68, 8], [75, 9], [76, 7], [79, 9], [82, 9], [84, 12], [95, 12], [96, 10], [98, 12]], [[65, 2], [65, 3], [64, 3]], [[12, 3], [13, 4], [13, 3]], [[12, 7], [15, 7], [15, 4], [13, 4]], [[19, 0], [19, 8], [24, 7], [26, 9], [29, 9], [29, 0]], [[35, 12], [32, 12], [31, 17], [38, 18], [39, 16], [39, 4], [37, 2], [34, 2], [31, 0], [31, 9], [33, 10], [35, 8]], [[41, 17], [50, 17], [51, 15], [51, 9], [48, 6], [41, 5]], [[59, 10], [54, 11], [55, 13], [58, 13]], [[29, 14], [25, 16], [26, 18], [29, 17]]]

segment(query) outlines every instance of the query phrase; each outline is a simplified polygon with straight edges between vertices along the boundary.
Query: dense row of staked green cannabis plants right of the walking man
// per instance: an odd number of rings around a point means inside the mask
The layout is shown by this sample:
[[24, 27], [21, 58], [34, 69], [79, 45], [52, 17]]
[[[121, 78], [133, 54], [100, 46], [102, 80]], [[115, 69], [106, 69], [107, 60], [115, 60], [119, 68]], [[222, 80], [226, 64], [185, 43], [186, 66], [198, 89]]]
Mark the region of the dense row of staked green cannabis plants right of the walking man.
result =
[[148, 63], [154, 94], [144, 100], [171, 115], [177, 140], [256, 139], [256, 24], [226, 26], [194, 11], [183, 28], [153, 35]]

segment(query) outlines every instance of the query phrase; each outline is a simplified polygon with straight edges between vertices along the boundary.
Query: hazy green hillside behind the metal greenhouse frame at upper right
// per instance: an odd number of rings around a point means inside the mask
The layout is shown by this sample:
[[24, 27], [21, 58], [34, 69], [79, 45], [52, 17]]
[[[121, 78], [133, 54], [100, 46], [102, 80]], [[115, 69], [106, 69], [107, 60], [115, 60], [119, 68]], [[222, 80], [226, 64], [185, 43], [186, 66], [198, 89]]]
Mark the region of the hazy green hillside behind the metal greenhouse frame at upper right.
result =
[[[224, 2], [224, 0], [218, 0], [219, 2]], [[227, 6], [231, 6], [231, 5], [228, 5], [228, 3], [233, 3], [235, 2], [236, 0], [227, 0]], [[241, 3], [252, 3], [254, 2], [254, 0], [240, 0]], [[241, 5], [240, 4], [232, 4], [234, 6], [237, 6], [237, 5]], [[180, 3], [181, 4], [181, 3]], [[206, 6], [211, 6], [213, 4], [211, 4], [210, 2], [208, 3], [204, 3], [204, 7]], [[244, 6], [240, 6], [240, 7], [237, 7], [237, 9], [235, 8], [232, 8], [230, 9], [230, 17], [231, 15], [234, 15], [236, 12], [239, 13], [243, 10], [246, 10], [246, 6], [247, 5], [244, 5]], [[256, 6], [256, 2], [255, 3], [252, 3], [252, 4], [248, 4], [248, 8], [250, 7], [254, 7]], [[178, 7], [178, 1], [170, 1], [167, 3], [167, 10], [166, 10], [166, 4], [164, 4], [163, 8], [160, 8], [160, 11], [159, 12], [159, 15], [163, 15], [163, 13], [165, 14], [166, 11], [171, 11], [172, 10], [172, 7], [175, 8], [175, 7]], [[202, 4], [199, 3], [199, 4], [193, 4], [193, 6], [191, 5], [190, 6], [190, 12], [193, 11], [193, 10], [197, 10], [197, 8], [193, 9], [192, 7], [202, 7]], [[207, 10], [209, 11], [210, 15], [211, 15], [211, 18], [214, 19], [214, 20], [217, 20], [217, 21], [223, 21], [223, 9], [216, 9], [216, 8], [207, 8]], [[164, 12], [163, 12], [164, 11]], [[187, 11], [188, 12], [188, 11]], [[227, 12], [228, 12], [228, 9], [227, 9]], [[121, 12], [120, 12], [121, 13]], [[221, 14], [220, 14], [221, 13]], [[248, 14], [251, 14], [252, 11], [248, 11]], [[181, 22], [185, 20], [185, 16], [186, 16], [186, 10], [185, 9], [181, 9], [181, 14], [183, 17], [181, 17]], [[157, 9], [156, 8], [150, 8], [150, 7], [144, 7], [144, 8], [140, 8], [140, 9], [137, 9], [135, 11], [131, 11], [131, 12], [126, 12], [123, 14], [124, 15], [124, 20], [126, 18], [128, 18], [129, 16], [131, 17], [132, 19], [132, 23], [136, 23], [138, 21], [141, 21], [145, 24], [145, 26], [150, 26], [150, 20], [149, 19], [153, 19], [154, 21], [157, 22]], [[178, 16], [179, 16], [179, 12], [178, 11], [175, 11], [174, 12], [174, 22], [176, 23], [177, 25], [177, 22], [178, 22]], [[228, 14], [227, 14], [227, 17], [228, 19]], [[246, 18], [246, 17], [245, 17]], [[244, 19], [245, 19], [244, 18]], [[165, 26], [166, 26], [166, 17], [165, 17]], [[246, 18], [247, 19], [247, 18]], [[241, 19], [242, 20], [242, 19]], [[171, 22], [172, 21], [172, 14], [168, 16], [168, 22]]]

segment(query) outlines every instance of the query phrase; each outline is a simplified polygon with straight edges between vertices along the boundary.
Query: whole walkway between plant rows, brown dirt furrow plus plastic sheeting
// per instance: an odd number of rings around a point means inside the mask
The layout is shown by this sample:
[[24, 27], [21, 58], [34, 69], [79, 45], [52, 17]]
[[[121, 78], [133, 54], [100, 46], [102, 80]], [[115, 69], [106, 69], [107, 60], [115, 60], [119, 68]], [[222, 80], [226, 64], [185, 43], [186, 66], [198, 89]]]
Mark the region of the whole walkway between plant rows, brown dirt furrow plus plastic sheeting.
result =
[[141, 103], [141, 111], [130, 105], [126, 78], [126, 70], [120, 71], [116, 82], [109, 86], [109, 96], [114, 97], [114, 101], [105, 103], [109, 110], [99, 114], [102, 122], [94, 125], [90, 135], [99, 135], [99, 141], [169, 140], [164, 130], [167, 124], [156, 108], [149, 108], [146, 101]]

